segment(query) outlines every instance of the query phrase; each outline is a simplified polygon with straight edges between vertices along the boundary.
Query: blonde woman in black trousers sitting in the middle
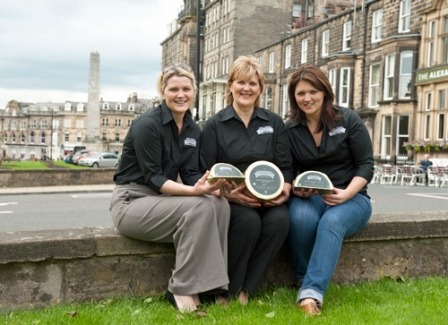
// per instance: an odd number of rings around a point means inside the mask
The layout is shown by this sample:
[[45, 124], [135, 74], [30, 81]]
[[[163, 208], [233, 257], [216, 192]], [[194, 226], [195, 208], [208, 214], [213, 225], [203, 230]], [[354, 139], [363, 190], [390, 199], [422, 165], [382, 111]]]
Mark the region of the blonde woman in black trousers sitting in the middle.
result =
[[231, 208], [227, 298], [235, 296], [242, 304], [256, 292], [289, 228], [286, 201], [293, 175], [288, 135], [279, 115], [259, 107], [263, 90], [258, 60], [239, 57], [228, 73], [228, 106], [207, 120], [201, 141], [203, 170], [229, 163], [244, 173], [250, 164], [265, 160], [277, 165], [285, 179], [278, 197], [265, 202], [249, 195], [244, 185], [225, 194]]

